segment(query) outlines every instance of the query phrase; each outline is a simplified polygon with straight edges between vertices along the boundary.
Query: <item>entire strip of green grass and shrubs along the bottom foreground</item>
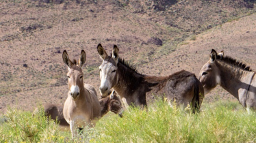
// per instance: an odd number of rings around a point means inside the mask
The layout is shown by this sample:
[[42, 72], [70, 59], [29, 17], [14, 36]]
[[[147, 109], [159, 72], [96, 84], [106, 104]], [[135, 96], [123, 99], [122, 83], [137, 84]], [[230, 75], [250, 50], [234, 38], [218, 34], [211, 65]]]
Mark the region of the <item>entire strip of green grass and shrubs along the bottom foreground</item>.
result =
[[158, 101], [147, 111], [130, 108], [123, 118], [105, 116], [74, 140], [42, 114], [8, 110], [4, 116], [0, 142], [256, 142], [256, 113], [232, 101], [203, 104], [196, 114]]

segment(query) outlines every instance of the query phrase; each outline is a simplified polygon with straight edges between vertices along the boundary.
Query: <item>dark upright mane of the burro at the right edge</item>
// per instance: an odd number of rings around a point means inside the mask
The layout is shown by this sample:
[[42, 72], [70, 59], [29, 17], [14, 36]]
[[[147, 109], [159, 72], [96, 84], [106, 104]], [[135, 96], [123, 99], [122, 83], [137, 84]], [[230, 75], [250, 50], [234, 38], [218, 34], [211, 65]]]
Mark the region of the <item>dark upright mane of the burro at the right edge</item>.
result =
[[220, 55], [217, 55], [217, 59], [219, 59], [220, 61], [223, 61], [227, 64], [230, 64], [230, 65], [234, 65], [235, 67], [240, 67], [241, 69], [244, 69], [248, 72], [252, 72], [253, 70], [251, 69], [251, 67], [247, 66], [245, 63], [242, 63], [236, 59], [233, 59], [231, 57], [228, 57], [228, 56], [225, 56], [225, 57], [222, 57]]

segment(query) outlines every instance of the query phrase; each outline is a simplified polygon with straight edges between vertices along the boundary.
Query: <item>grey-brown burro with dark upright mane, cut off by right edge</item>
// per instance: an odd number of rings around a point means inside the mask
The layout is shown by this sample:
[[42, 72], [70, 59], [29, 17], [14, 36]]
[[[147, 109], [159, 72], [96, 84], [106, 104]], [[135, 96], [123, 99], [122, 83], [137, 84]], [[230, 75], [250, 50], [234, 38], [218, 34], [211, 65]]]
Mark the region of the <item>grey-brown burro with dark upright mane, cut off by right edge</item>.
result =
[[255, 72], [246, 64], [237, 61], [224, 52], [217, 54], [212, 49], [210, 59], [203, 65], [199, 80], [203, 84], [205, 94], [218, 84], [233, 95], [249, 112], [256, 109], [256, 80]]

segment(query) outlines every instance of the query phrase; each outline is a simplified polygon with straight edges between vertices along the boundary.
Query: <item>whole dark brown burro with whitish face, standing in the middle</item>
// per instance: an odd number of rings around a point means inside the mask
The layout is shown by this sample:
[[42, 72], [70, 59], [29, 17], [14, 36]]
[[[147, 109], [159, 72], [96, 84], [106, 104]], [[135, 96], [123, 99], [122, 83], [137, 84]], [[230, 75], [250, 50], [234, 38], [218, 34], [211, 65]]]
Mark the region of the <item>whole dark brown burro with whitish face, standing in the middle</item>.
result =
[[170, 76], [146, 76], [139, 74], [136, 67], [119, 58], [116, 45], [111, 56], [107, 55], [101, 44], [97, 46], [97, 50], [103, 60], [99, 67], [99, 89], [103, 97], [113, 88], [120, 97], [126, 99], [129, 106], [133, 104], [143, 107], [151, 97], [164, 95], [170, 106], [175, 101], [177, 105], [191, 105], [193, 111], [199, 110], [204, 91], [194, 74], [182, 70]]

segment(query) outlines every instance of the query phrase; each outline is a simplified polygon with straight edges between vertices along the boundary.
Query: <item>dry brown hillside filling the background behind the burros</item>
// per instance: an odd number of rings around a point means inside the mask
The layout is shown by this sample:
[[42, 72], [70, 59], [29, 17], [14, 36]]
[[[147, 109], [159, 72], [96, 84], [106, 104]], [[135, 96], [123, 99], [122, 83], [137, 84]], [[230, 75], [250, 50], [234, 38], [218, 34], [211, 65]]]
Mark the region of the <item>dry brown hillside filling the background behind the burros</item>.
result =
[[[0, 113], [64, 104], [63, 50], [75, 59], [86, 51], [84, 82], [98, 89], [99, 43], [109, 52], [117, 44], [142, 74], [197, 76], [212, 48], [256, 69], [255, 23], [254, 4], [242, 0], [1, 1]], [[218, 99], [233, 97], [218, 87], [204, 101]]]

